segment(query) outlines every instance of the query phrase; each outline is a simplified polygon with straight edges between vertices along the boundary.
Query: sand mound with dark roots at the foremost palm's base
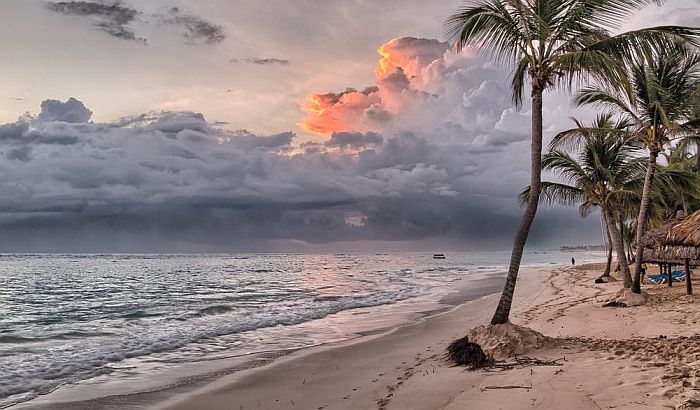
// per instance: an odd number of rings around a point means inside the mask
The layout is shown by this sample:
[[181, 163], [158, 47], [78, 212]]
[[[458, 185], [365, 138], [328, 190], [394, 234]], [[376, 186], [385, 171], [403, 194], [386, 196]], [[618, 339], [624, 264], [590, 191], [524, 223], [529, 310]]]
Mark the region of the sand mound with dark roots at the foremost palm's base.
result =
[[539, 332], [510, 322], [478, 326], [470, 330], [467, 336], [497, 359], [525, 355], [552, 342], [551, 338]]

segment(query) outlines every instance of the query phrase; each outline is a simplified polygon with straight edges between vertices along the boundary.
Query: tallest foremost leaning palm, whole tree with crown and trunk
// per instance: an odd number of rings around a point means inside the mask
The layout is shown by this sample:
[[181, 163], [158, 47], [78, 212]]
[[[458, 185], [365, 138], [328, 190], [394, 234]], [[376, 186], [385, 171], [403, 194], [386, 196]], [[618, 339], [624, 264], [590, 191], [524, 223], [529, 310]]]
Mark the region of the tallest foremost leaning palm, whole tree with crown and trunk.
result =
[[522, 105], [527, 83], [532, 100], [532, 192], [515, 235], [508, 275], [491, 324], [508, 321], [523, 249], [542, 190], [542, 95], [589, 78], [628, 88], [620, 60], [671, 41], [698, 36], [697, 29], [655, 27], [613, 36], [639, 9], [661, 0], [467, 0], [445, 23], [457, 49], [471, 45], [497, 62], [513, 65], [512, 97]]

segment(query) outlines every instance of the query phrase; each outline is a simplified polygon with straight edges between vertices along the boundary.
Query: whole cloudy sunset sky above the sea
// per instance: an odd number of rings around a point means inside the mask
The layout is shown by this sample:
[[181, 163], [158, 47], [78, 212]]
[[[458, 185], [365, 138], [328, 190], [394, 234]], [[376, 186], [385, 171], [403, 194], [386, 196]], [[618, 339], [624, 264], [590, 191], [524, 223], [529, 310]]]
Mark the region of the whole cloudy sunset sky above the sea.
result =
[[[0, 0], [0, 251], [508, 249], [529, 107], [445, 42], [459, 5]], [[545, 114], [546, 139], [591, 115]], [[530, 243], [600, 242], [543, 207]]]

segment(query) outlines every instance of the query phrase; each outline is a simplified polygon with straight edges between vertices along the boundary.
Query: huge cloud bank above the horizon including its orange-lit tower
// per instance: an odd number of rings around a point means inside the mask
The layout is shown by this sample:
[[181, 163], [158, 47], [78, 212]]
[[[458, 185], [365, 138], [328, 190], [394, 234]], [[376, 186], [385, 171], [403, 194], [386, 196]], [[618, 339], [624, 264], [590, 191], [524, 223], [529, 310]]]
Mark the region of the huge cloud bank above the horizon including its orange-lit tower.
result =
[[[90, 122], [77, 99], [44, 101], [35, 117], [0, 125], [0, 251], [435, 238], [507, 248], [529, 169], [528, 108], [511, 108], [508, 70], [436, 40], [391, 44], [377, 86], [319, 95], [329, 116], [317, 119], [346, 131], [305, 143], [195, 112]], [[568, 99], [552, 97], [550, 131], [569, 115]], [[599, 238], [575, 210], [538, 218], [534, 244]]]

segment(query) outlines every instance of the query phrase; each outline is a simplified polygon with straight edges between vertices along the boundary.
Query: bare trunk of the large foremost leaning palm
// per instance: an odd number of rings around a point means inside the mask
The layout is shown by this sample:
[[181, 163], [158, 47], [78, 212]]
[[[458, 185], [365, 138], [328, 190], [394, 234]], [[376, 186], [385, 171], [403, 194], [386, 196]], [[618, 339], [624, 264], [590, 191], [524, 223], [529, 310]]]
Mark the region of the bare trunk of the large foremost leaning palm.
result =
[[508, 322], [510, 307], [513, 303], [515, 293], [515, 282], [518, 280], [520, 261], [523, 258], [525, 242], [532, 221], [537, 214], [537, 205], [540, 202], [540, 192], [542, 191], [542, 92], [543, 88], [538, 84], [537, 79], [532, 79], [532, 141], [530, 145], [530, 197], [527, 201], [525, 213], [520, 221], [520, 226], [515, 234], [513, 252], [510, 254], [510, 266], [508, 276], [503, 286], [501, 299], [496, 307], [496, 312], [491, 319], [492, 325], [499, 325]]

